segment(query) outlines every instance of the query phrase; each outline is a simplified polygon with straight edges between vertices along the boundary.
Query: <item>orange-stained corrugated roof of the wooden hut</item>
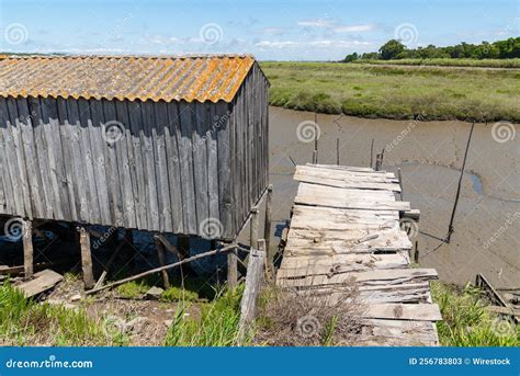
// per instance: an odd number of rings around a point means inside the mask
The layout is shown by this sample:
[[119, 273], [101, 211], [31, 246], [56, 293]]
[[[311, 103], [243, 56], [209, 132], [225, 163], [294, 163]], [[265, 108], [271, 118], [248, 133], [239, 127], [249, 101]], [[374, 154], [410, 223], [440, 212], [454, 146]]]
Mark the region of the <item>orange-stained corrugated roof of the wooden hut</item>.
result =
[[0, 96], [230, 102], [253, 64], [247, 55], [8, 57]]

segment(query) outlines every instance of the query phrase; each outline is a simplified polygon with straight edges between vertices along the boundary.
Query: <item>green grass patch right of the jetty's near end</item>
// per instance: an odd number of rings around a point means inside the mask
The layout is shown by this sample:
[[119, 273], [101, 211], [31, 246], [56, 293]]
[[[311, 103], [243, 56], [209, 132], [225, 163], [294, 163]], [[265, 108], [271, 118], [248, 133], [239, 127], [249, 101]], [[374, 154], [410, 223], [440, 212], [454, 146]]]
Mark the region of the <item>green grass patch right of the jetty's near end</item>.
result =
[[437, 323], [444, 346], [519, 346], [520, 326], [515, 326], [485, 308], [482, 293], [466, 286], [463, 290], [432, 283], [432, 297], [443, 321]]

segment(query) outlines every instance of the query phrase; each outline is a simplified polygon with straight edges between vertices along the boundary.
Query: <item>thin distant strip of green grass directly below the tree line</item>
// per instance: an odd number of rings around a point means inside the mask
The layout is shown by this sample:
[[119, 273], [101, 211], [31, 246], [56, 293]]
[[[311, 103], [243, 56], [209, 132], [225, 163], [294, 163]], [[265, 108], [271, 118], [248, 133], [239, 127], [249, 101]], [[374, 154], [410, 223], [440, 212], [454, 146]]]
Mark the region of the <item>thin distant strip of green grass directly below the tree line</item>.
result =
[[481, 68], [520, 68], [520, 59], [397, 59], [397, 60], [354, 60], [350, 64], [396, 65], [396, 66], [440, 66], [440, 67], [481, 67]]

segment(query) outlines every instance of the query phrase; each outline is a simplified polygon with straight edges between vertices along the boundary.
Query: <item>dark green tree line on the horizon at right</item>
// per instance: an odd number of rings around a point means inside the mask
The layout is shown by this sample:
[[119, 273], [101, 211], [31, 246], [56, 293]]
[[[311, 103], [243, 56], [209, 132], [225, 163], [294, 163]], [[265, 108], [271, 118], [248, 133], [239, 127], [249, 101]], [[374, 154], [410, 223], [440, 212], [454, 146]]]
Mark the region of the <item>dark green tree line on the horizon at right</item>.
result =
[[344, 62], [358, 59], [364, 60], [398, 60], [398, 59], [511, 59], [520, 58], [520, 37], [510, 37], [494, 43], [483, 42], [471, 44], [462, 42], [454, 46], [437, 47], [432, 44], [426, 47], [408, 48], [398, 39], [386, 42], [376, 53], [353, 53], [347, 55]]

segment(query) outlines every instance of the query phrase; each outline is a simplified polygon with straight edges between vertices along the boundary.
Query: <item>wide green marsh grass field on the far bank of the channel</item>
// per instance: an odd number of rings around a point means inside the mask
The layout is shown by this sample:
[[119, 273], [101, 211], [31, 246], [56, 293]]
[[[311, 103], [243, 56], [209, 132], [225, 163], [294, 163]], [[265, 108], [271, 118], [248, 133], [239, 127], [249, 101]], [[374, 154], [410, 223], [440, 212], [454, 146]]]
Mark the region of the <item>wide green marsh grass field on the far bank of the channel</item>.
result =
[[520, 122], [520, 70], [270, 62], [270, 103], [386, 118]]

